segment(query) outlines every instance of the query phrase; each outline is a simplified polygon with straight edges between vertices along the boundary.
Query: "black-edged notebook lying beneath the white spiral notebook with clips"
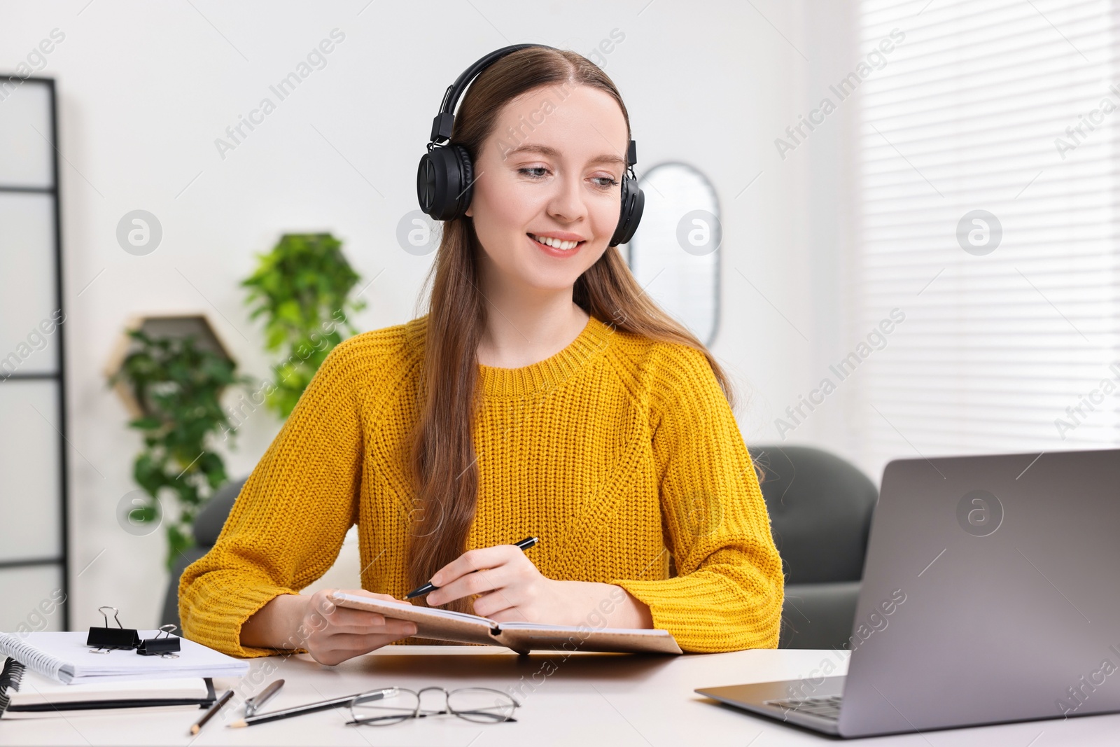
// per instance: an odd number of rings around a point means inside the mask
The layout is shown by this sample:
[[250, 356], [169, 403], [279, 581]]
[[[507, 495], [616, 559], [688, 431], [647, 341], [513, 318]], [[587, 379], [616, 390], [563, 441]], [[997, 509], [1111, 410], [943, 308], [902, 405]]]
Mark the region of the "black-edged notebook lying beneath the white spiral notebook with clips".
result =
[[214, 702], [209, 678], [119, 680], [63, 684], [9, 657], [0, 671], [0, 719], [34, 719], [128, 712], [192, 711]]

